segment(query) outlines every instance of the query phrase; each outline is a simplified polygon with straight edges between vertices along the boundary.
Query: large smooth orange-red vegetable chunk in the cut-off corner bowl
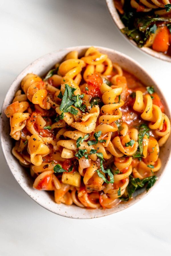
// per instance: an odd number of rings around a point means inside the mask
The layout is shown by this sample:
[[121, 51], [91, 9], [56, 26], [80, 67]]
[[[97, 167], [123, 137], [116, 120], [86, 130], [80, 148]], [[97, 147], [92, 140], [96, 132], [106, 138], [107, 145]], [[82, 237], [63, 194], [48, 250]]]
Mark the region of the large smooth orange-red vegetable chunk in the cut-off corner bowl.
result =
[[169, 34], [169, 30], [166, 26], [161, 27], [154, 39], [152, 49], [162, 53], [166, 52], [169, 47]]

